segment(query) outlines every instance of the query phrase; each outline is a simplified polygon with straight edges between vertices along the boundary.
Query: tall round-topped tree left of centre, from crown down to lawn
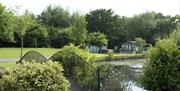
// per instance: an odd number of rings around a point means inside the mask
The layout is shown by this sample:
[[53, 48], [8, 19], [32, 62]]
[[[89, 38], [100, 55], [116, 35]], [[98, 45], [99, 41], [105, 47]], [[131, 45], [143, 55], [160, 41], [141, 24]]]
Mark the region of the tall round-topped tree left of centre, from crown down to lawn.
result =
[[[49, 5], [39, 15], [38, 20], [47, 27], [51, 47], [63, 47], [71, 41], [71, 15], [61, 6]], [[68, 34], [69, 33], [69, 34]]]

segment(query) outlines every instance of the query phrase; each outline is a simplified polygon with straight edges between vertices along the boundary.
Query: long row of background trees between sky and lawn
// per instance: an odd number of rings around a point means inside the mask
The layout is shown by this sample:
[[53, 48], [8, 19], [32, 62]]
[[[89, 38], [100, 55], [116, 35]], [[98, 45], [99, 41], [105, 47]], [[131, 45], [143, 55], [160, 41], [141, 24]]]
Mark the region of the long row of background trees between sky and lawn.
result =
[[111, 9], [96, 9], [84, 16], [79, 12], [70, 14], [61, 6], [49, 5], [36, 17], [28, 11], [23, 15], [18, 15], [18, 11], [13, 14], [1, 4], [0, 46], [62, 48], [69, 43], [85, 45], [88, 32], [105, 34], [111, 49], [120, 48], [124, 42], [137, 37], [155, 45], [156, 38], [169, 36], [179, 25], [179, 15], [165, 16], [156, 12], [125, 17], [116, 15]]

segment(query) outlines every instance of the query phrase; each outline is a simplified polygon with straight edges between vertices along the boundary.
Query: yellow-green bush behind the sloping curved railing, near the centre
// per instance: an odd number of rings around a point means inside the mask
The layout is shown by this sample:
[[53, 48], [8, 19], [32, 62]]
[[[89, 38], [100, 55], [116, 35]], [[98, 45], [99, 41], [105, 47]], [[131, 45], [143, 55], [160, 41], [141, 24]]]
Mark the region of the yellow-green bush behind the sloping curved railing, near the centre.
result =
[[88, 87], [88, 83], [94, 78], [93, 68], [90, 66], [93, 57], [91, 54], [74, 45], [65, 46], [52, 57], [52, 60], [60, 62], [64, 67], [64, 73], [72, 77], [77, 83]]

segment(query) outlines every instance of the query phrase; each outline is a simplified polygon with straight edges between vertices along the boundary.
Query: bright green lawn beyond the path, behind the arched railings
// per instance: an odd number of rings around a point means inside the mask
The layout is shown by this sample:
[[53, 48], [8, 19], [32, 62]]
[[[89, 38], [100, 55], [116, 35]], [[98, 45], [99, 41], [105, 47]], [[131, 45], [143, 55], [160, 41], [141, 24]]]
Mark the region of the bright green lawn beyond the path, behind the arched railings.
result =
[[[24, 48], [23, 54], [30, 50], [35, 50], [46, 57], [52, 56], [54, 53], [58, 52], [60, 49], [55, 48]], [[0, 59], [13, 59], [13, 58], [19, 58], [20, 57], [20, 48], [0, 48]]]

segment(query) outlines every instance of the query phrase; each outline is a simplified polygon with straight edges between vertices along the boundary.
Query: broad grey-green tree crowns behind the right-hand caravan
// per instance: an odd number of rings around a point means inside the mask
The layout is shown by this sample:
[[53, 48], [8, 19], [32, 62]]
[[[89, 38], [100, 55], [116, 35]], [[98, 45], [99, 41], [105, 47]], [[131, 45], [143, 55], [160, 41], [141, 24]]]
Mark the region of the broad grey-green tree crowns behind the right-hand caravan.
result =
[[127, 19], [126, 36], [128, 40], [141, 37], [149, 44], [155, 44], [156, 38], [164, 38], [177, 28], [177, 17], [164, 16], [161, 13], [146, 12]]

